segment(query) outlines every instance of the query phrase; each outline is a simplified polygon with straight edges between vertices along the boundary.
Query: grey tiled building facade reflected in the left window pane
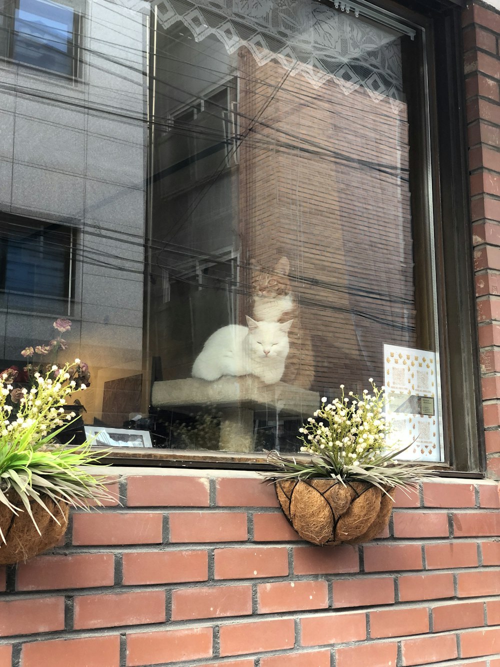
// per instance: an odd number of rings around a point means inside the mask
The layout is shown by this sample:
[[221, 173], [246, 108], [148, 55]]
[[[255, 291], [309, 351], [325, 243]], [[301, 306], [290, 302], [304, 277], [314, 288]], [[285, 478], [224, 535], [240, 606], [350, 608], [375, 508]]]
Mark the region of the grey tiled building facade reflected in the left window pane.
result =
[[[141, 5], [103, 1], [74, 25], [77, 77], [1, 65], [0, 357], [19, 362], [25, 346], [51, 338], [56, 317], [70, 317], [68, 354], [88, 360], [88, 418], [101, 419], [105, 383], [137, 376], [140, 391], [146, 17]], [[128, 418], [140, 403], [125, 407]]]

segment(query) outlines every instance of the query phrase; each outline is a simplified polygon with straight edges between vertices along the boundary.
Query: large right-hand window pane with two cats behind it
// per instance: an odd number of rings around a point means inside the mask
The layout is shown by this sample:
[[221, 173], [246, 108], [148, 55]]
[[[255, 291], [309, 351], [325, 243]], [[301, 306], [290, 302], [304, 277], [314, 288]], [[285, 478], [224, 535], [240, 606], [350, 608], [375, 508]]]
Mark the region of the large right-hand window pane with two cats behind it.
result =
[[[391, 385], [396, 359], [411, 368], [393, 382], [399, 434], [425, 429], [413, 454], [439, 459], [439, 383], [415, 379], [425, 355], [437, 374], [409, 177], [415, 45], [317, 3], [272, 8], [158, 7], [151, 273], [184, 283], [175, 300], [151, 289], [167, 444], [195, 447], [209, 428], [210, 448], [294, 451], [322, 396]], [[236, 271], [206, 283], [229, 255]]]

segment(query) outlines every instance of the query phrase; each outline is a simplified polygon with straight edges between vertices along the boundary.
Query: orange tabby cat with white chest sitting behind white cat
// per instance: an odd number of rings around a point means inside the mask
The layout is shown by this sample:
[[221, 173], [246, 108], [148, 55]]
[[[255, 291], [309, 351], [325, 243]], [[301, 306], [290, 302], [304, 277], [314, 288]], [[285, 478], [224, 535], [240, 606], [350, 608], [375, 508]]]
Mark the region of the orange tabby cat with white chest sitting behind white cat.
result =
[[293, 319], [288, 332], [290, 350], [281, 382], [309, 389], [314, 378], [313, 349], [307, 331], [301, 328], [300, 313], [293, 295], [289, 271], [290, 262], [281, 257], [273, 271], [265, 271], [251, 261], [253, 319], [286, 322]]

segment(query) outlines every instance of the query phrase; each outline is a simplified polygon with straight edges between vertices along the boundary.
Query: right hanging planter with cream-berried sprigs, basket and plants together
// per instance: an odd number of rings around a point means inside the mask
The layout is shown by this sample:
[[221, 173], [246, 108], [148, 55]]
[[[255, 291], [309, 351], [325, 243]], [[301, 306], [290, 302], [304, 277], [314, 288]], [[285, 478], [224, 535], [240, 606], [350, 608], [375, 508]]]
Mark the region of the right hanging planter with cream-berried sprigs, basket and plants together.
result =
[[377, 537], [389, 523], [397, 488], [433, 476], [425, 464], [397, 461], [411, 444], [387, 445], [385, 388], [370, 378], [362, 396], [341, 385], [341, 398], [321, 408], [299, 429], [299, 459], [270, 452], [277, 470], [263, 473], [276, 486], [281, 509], [299, 535], [313, 544], [356, 544]]

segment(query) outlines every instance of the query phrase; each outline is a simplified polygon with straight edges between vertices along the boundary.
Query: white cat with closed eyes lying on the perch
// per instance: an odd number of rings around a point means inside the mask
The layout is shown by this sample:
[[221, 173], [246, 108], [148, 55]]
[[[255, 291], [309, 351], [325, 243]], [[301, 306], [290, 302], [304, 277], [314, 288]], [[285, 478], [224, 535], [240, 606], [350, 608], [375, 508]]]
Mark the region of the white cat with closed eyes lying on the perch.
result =
[[247, 315], [248, 327], [230, 324], [217, 329], [193, 364], [193, 378], [254, 375], [265, 384], [279, 382], [285, 370], [292, 321], [256, 322]]

